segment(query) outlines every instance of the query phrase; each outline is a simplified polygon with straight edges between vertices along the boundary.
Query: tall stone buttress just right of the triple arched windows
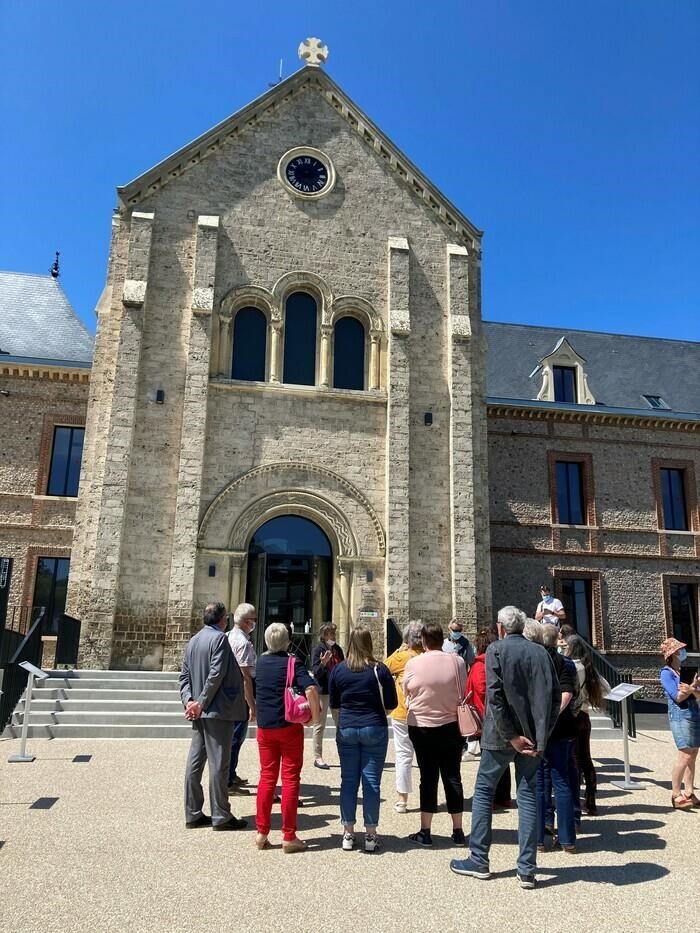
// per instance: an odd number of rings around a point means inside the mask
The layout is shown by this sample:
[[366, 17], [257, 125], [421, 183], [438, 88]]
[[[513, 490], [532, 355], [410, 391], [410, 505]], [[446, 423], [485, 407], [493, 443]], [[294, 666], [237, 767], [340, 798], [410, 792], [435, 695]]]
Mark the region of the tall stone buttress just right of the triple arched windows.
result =
[[386, 615], [401, 627], [409, 615], [409, 248], [388, 240], [389, 346], [386, 430]]

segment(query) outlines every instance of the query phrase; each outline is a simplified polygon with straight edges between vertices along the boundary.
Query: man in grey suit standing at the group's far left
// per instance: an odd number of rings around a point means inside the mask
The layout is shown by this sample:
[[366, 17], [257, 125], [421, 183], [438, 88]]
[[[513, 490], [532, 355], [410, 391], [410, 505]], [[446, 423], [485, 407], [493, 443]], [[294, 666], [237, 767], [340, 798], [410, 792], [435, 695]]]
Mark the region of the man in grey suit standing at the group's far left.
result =
[[[180, 672], [180, 696], [185, 716], [192, 720], [192, 743], [185, 774], [185, 826], [196, 829], [243, 829], [246, 820], [231, 813], [228, 766], [234, 722], [246, 712], [243, 675], [225, 634], [226, 607], [210, 603], [204, 625], [185, 649]], [[202, 772], [209, 762], [211, 816], [202, 812]]]

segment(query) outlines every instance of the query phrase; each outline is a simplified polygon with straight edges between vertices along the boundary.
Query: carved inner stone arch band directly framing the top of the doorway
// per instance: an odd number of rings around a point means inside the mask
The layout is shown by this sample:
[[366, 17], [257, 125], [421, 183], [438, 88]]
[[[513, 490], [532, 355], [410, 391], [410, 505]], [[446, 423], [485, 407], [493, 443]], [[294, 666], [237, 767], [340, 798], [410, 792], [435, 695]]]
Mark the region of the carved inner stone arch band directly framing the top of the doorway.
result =
[[315, 522], [335, 543], [336, 557], [355, 557], [357, 542], [345, 516], [327, 499], [304, 489], [289, 489], [261, 496], [236, 519], [229, 546], [247, 551], [260, 525], [279, 515], [299, 515]]

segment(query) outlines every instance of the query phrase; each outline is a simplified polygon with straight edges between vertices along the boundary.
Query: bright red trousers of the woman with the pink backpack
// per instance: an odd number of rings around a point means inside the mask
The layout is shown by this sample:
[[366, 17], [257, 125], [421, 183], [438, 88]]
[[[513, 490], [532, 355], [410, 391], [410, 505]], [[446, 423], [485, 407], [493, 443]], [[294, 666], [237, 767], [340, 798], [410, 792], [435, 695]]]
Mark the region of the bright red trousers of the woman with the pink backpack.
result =
[[300, 723], [282, 729], [261, 729], [258, 726], [260, 780], [258, 781], [255, 823], [259, 833], [270, 832], [270, 815], [275, 787], [282, 766], [282, 838], [294, 839], [297, 832], [299, 780], [304, 758], [304, 727]]

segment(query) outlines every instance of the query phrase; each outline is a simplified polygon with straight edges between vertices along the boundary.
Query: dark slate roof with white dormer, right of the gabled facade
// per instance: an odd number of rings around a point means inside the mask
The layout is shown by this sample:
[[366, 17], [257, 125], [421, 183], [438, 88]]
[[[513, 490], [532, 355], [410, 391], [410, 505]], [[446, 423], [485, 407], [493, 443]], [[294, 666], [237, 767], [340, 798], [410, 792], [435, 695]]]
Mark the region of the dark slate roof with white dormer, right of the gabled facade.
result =
[[700, 413], [700, 343], [493, 321], [484, 322], [484, 334], [489, 398], [537, 398], [542, 374], [530, 373], [566, 337], [586, 360], [597, 406], [648, 413], [652, 409], [642, 396], [660, 395], [671, 411]]

